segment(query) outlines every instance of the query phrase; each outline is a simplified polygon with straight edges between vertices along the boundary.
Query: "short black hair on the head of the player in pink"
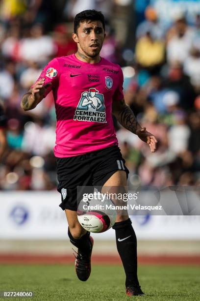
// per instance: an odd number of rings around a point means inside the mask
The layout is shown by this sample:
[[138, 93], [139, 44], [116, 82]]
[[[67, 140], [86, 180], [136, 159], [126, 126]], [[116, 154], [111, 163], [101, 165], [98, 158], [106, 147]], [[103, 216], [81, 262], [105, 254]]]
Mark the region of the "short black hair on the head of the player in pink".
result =
[[80, 23], [84, 21], [100, 21], [105, 31], [105, 19], [101, 11], [95, 9], [83, 10], [75, 16], [74, 20], [74, 32], [77, 33], [77, 29]]

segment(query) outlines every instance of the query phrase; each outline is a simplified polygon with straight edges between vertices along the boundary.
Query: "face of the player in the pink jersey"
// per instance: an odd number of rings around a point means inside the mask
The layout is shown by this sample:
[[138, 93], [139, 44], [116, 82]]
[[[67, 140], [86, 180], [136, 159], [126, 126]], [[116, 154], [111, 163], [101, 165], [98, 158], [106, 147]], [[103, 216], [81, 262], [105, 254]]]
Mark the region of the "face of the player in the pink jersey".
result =
[[89, 58], [95, 58], [100, 54], [105, 33], [100, 21], [80, 23], [77, 34], [73, 34], [78, 51]]

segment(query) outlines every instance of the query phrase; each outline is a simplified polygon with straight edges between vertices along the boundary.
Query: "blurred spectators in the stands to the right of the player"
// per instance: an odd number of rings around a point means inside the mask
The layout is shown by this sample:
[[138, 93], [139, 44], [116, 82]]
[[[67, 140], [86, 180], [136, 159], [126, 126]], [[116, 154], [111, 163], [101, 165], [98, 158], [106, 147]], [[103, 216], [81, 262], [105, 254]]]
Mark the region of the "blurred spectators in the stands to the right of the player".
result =
[[148, 6], [136, 29], [135, 60], [124, 68], [125, 100], [137, 119], [158, 139], [148, 146], [119, 129], [118, 137], [131, 171], [129, 184], [200, 184], [200, 15], [188, 24], [176, 10], [163, 27]]

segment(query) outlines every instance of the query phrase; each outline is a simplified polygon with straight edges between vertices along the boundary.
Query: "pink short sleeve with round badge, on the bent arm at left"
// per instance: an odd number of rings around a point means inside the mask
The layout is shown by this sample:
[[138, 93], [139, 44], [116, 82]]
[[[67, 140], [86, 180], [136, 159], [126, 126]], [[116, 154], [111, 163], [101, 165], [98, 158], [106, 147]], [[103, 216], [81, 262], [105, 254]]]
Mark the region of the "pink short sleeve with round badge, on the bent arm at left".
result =
[[[60, 66], [57, 59], [51, 60], [42, 70], [40, 76], [38, 77], [37, 81], [41, 80], [42, 78], [45, 79], [45, 84], [51, 83], [51, 86], [47, 89], [44, 96], [47, 96], [49, 92], [55, 89], [59, 84], [59, 76], [60, 76]], [[33, 88], [36, 82], [31, 86]]]

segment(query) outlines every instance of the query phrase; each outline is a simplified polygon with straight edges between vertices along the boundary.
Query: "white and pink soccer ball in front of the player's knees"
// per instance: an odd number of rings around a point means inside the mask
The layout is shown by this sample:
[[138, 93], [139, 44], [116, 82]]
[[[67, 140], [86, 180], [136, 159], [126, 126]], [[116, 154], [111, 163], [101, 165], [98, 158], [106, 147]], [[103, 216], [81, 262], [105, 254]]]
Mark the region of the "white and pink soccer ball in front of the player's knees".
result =
[[117, 217], [115, 205], [110, 199], [93, 198], [81, 200], [77, 210], [81, 226], [93, 233], [102, 233], [110, 229]]

